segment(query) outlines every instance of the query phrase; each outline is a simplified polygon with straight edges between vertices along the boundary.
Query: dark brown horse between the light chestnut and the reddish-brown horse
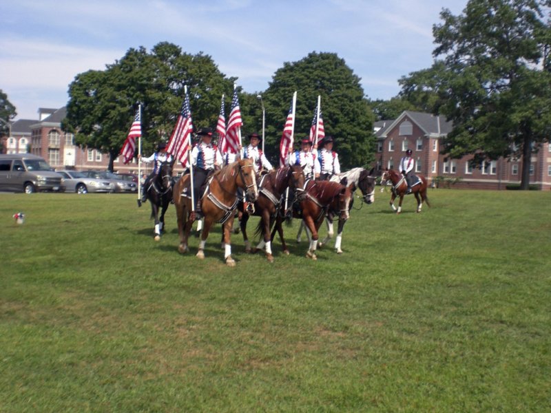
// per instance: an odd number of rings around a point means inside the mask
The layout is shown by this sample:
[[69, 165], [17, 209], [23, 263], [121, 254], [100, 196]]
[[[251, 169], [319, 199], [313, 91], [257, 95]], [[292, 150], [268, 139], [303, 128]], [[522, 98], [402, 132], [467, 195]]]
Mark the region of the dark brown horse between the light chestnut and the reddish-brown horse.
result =
[[295, 191], [297, 198], [300, 198], [300, 193], [304, 191], [304, 172], [300, 165], [274, 169], [260, 178], [258, 199], [254, 203], [254, 212], [249, 213], [247, 209], [243, 209], [242, 211], [240, 229], [245, 241], [245, 252], [251, 252], [251, 244], [247, 237], [247, 221], [249, 220], [249, 216], [260, 216], [256, 232], [262, 235], [262, 239], [256, 248], [253, 248], [252, 252], [256, 253], [264, 248], [267, 260], [269, 262], [273, 261], [270, 231], [282, 203], [282, 196], [288, 188]]

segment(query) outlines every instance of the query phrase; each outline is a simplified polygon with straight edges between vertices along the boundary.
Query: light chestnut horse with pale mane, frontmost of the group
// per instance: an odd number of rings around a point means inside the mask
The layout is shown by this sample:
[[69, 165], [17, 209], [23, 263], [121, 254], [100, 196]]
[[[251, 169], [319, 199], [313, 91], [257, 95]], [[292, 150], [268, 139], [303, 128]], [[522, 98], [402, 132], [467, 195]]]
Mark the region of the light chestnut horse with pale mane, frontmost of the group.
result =
[[[189, 179], [189, 174], [184, 175], [174, 186], [174, 205], [176, 207], [178, 235], [180, 236], [178, 251], [182, 254], [189, 252], [187, 240], [191, 231], [191, 225], [195, 220], [195, 213], [192, 213], [191, 208], [191, 195], [188, 195], [188, 193], [191, 193], [188, 187]], [[231, 229], [233, 226], [233, 215], [238, 202], [238, 188], [245, 191], [247, 201], [254, 202], [258, 198], [256, 174], [251, 159], [242, 159], [226, 165], [219, 171], [216, 171], [209, 179], [207, 189], [205, 189], [201, 197], [202, 212], [205, 219], [196, 254], [196, 257], [199, 259], [205, 258], [205, 244], [212, 224], [220, 222], [224, 233], [224, 258], [226, 264], [228, 266], [236, 265], [236, 262], [231, 257]]]

